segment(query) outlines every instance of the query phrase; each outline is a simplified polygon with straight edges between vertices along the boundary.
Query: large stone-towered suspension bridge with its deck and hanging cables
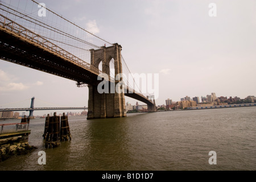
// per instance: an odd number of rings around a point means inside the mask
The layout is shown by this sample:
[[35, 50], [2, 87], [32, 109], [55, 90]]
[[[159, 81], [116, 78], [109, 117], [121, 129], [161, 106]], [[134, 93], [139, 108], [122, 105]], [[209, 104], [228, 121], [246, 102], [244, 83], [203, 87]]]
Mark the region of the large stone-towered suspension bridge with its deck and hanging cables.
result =
[[[126, 117], [125, 96], [144, 102], [149, 112], [156, 111], [154, 96], [144, 96], [120, 76], [123, 67], [129, 70], [121, 45], [109, 43], [35, 1], [29, 3], [45, 9], [48, 18], [1, 2], [0, 59], [88, 86], [88, 119]], [[102, 80], [109, 92], [98, 92]], [[123, 92], [110, 92], [111, 88]]]

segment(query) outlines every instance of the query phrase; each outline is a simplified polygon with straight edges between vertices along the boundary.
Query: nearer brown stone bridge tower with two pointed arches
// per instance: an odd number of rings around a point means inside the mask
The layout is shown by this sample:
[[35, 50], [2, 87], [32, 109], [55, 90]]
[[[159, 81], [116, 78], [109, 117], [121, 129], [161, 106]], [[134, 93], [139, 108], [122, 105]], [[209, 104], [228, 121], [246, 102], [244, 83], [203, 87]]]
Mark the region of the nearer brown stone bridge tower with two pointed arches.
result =
[[[115, 77], [122, 73], [122, 47], [115, 43], [114, 46], [101, 47], [100, 49], [90, 49], [90, 64], [98, 68], [102, 62], [102, 72], [110, 76], [110, 61], [114, 59]], [[93, 118], [118, 118], [126, 117], [125, 113], [125, 93], [117, 93], [115, 88], [120, 80], [109, 82], [109, 93], [99, 93], [97, 86], [88, 85], [89, 100], [88, 100], [88, 119]]]

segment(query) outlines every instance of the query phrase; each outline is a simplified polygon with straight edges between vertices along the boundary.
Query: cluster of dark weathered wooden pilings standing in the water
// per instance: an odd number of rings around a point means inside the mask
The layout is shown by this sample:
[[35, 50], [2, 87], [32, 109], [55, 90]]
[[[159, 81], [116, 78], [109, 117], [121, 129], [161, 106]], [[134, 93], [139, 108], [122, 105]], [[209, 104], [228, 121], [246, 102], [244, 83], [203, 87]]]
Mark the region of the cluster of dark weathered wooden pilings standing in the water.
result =
[[44, 125], [44, 134], [46, 148], [59, 146], [60, 142], [71, 140], [70, 129], [68, 125], [68, 116], [57, 116], [56, 113], [52, 117], [49, 114], [46, 117]]

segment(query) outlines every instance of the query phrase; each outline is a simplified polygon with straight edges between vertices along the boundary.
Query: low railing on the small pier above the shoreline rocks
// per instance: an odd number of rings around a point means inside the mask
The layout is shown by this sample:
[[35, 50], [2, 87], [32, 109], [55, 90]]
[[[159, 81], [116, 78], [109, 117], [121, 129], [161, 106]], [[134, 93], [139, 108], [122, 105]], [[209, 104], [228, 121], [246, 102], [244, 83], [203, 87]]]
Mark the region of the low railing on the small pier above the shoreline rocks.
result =
[[5, 123], [0, 124], [0, 133], [11, 133], [16, 131], [25, 131], [29, 129], [29, 123]]

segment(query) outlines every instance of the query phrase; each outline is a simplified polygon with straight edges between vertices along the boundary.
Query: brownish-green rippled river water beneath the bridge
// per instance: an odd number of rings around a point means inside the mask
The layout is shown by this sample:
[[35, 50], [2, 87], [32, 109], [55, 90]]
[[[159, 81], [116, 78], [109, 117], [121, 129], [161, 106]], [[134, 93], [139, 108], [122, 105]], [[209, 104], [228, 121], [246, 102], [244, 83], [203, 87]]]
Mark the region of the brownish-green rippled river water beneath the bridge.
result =
[[[44, 119], [33, 119], [29, 143], [38, 148], [0, 170], [255, 170], [255, 118], [256, 107], [69, 117], [72, 140], [57, 148], [44, 148]], [[38, 164], [42, 150], [46, 165]]]

